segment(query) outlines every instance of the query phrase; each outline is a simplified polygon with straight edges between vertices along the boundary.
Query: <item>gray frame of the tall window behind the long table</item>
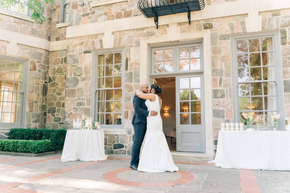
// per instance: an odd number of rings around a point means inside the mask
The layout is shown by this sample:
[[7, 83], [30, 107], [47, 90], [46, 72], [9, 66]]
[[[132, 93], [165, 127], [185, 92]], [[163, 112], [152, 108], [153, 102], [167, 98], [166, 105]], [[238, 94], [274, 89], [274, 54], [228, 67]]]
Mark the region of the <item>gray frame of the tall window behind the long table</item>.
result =
[[[275, 69], [275, 82], [276, 83], [276, 108], [277, 113], [281, 114], [281, 117], [278, 122], [277, 130], [284, 130], [284, 92], [283, 92], [283, 80], [282, 80], [282, 61], [281, 61], [281, 48], [280, 48], [280, 39], [279, 39], [279, 30], [271, 30], [266, 32], [257, 32], [257, 33], [244, 33], [231, 35], [231, 63], [232, 63], [232, 80], [233, 80], [233, 103], [234, 103], [234, 122], [240, 122], [240, 110], [239, 110], [239, 90], [238, 90], [238, 75], [237, 75], [237, 46], [236, 40], [239, 39], [254, 39], [254, 38], [264, 38], [272, 37], [273, 43], [273, 60], [274, 60], [274, 69]], [[261, 61], [262, 62], [262, 61]], [[247, 81], [250, 83], [251, 81]], [[269, 81], [255, 81], [255, 82], [269, 82]], [[243, 83], [243, 82], [242, 82]], [[263, 104], [264, 105], [264, 104]], [[264, 112], [264, 110], [261, 110]], [[269, 117], [268, 117], [269, 119]], [[244, 126], [246, 127], [246, 126]], [[273, 128], [273, 126], [272, 126]]]

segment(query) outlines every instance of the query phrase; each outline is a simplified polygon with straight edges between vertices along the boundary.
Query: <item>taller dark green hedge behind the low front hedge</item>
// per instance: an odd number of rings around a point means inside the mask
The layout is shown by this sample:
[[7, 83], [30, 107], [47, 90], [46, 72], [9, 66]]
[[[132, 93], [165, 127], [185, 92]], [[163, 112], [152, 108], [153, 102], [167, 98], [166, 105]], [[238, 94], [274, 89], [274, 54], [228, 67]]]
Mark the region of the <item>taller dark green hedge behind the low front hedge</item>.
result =
[[63, 149], [65, 138], [65, 129], [12, 128], [8, 133], [8, 139], [50, 140], [54, 144], [54, 151]]

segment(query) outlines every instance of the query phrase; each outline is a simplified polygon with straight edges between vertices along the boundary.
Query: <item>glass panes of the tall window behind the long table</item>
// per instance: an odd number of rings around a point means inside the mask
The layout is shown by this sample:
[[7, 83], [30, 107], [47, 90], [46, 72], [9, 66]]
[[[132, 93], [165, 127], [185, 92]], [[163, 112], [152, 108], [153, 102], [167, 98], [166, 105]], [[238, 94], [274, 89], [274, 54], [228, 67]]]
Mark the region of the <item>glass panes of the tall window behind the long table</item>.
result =
[[[273, 37], [236, 40], [237, 92], [240, 121], [243, 112], [269, 115], [278, 111]], [[278, 112], [279, 113], [279, 112]]]

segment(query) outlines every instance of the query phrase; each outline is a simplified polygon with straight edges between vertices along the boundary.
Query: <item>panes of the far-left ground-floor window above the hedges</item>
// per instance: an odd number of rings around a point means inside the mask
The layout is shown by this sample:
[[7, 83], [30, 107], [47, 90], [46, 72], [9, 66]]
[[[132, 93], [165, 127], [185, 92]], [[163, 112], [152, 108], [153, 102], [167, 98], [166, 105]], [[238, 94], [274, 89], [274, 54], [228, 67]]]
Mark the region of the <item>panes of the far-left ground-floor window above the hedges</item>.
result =
[[21, 123], [23, 77], [24, 62], [0, 58], [0, 123]]

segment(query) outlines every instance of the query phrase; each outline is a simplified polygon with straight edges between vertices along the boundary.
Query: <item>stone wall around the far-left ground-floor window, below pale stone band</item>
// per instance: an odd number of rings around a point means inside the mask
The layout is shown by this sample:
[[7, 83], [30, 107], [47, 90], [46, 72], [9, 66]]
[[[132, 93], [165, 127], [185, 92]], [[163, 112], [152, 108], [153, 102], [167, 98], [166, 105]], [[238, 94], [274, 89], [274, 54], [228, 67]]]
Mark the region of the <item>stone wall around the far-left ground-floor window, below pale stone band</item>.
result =
[[0, 40], [0, 54], [29, 61], [25, 127], [45, 128], [49, 52]]

